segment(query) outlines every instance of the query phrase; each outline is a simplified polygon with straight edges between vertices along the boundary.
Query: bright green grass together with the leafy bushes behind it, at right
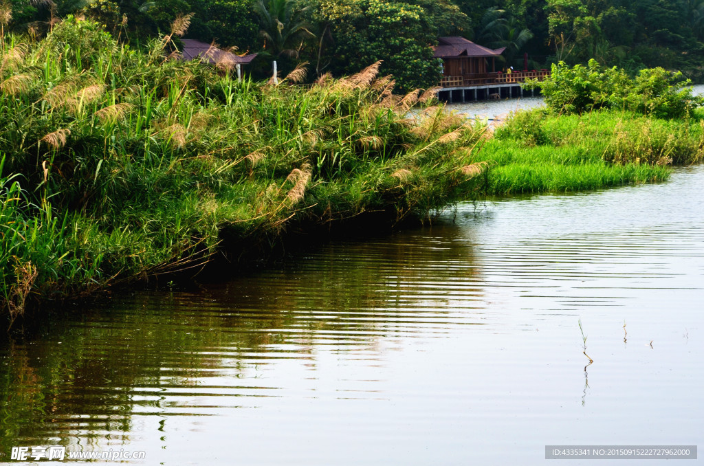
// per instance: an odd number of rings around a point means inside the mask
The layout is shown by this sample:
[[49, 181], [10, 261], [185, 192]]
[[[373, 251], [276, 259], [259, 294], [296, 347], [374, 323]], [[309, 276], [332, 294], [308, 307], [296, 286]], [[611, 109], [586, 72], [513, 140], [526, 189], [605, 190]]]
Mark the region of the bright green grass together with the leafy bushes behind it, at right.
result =
[[681, 73], [631, 78], [596, 61], [553, 65], [546, 107], [517, 112], [477, 160], [491, 157], [491, 194], [579, 191], [666, 180], [670, 166], [704, 156], [703, 99]]

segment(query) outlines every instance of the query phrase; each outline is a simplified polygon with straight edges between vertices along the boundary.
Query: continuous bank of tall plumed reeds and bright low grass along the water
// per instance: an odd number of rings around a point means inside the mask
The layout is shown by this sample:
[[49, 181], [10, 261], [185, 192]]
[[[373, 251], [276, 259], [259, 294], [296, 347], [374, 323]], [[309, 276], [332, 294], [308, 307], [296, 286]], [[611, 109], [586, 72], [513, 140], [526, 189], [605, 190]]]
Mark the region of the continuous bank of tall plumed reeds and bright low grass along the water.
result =
[[[312, 87], [233, 79], [175, 59], [187, 27], [144, 51], [67, 18], [0, 61], [0, 306], [197, 270], [229, 246], [270, 247], [374, 215], [427, 218], [486, 194], [664, 180], [701, 157], [702, 127], [627, 111], [518, 113], [490, 137], [393, 94], [379, 63]], [[416, 107], [411, 111], [411, 108]], [[372, 225], [378, 227], [378, 224]]]

